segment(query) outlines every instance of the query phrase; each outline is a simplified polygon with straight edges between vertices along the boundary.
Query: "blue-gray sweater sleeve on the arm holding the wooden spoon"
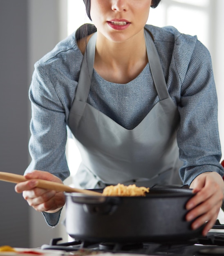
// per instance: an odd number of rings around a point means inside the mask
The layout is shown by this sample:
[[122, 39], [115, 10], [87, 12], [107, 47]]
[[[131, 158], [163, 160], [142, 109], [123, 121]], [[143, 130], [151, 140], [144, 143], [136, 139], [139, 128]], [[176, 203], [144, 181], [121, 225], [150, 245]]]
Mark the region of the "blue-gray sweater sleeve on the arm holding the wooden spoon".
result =
[[[29, 90], [31, 101], [31, 137], [29, 153], [31, 163], [27, 172], [48, 171], [65, 180], [69, 168], [65, 157], [67, 130], [63, 104], [41, 66], [37, 66]], [[56, 226], [60, 212], [45, 213], [43, 216], [49, 226]]]

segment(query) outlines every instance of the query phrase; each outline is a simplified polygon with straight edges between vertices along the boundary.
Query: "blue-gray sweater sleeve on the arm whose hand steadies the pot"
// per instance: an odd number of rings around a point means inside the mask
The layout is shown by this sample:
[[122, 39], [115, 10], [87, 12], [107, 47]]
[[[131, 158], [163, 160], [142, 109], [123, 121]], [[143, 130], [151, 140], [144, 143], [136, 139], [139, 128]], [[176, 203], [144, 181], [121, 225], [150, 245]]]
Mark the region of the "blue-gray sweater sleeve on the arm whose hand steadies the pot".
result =
[[[178, 69], [178, 60], [176, 65]], [[223, 176], [212, 62], [208, 50], [198, 40], [181, 81], [178, 109], [180, 127], [177, 141], [180, 159], [184, 162], [180, 169], [183, 183], [190, 184], [204, 172], [216, 171]]]

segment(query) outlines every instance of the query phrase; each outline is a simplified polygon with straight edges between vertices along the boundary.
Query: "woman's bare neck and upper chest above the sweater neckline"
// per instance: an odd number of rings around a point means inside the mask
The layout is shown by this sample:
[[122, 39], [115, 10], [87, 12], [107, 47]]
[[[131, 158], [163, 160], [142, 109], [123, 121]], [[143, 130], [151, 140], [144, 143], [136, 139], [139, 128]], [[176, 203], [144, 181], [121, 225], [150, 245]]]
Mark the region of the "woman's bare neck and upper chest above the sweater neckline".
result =
[[94, 68], [103, 78], [115, 83], [134, 79], [148, 63], [144, 31], [121, 42], [112, 42], [98, 33]]

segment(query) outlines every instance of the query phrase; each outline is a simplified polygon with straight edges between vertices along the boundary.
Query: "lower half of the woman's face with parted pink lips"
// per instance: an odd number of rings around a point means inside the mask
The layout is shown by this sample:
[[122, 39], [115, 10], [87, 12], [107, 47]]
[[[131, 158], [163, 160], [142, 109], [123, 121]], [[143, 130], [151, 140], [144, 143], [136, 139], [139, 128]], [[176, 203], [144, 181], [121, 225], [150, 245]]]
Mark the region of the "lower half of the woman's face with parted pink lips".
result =
[[123, 42], [143, 31], [152, 0], [91, 0], [90, 16], [97, 31]]

